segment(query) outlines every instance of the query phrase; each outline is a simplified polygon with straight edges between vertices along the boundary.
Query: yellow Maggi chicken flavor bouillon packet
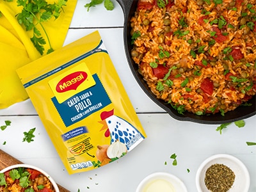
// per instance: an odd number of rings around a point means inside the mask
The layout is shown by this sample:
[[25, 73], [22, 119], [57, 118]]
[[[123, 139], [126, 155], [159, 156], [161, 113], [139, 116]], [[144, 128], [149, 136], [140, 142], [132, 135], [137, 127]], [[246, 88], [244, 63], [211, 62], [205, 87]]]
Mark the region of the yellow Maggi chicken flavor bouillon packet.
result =
[[17, 73], [69, 174], [115, 161], [146, 138], [98, 31]]

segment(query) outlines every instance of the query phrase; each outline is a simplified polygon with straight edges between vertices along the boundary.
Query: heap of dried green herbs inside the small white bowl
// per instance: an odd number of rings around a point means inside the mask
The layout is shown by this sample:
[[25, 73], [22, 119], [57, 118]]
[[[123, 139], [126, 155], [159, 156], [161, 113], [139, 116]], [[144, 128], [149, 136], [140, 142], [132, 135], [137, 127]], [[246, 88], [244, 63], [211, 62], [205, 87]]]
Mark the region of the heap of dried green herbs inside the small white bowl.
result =
[[224, 164], [212, 164], [205, 172], [205, 186], [212, 192], [227, 192], [235, 180], [235, 173]]

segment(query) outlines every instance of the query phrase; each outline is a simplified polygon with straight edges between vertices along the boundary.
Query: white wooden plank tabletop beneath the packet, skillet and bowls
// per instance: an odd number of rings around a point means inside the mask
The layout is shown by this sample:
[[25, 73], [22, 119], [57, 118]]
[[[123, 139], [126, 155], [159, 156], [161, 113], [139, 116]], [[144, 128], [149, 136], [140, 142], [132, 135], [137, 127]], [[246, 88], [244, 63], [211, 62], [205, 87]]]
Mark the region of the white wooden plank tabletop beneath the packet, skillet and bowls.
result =
[[[118, 161], [90, 172], [68, 175], [31, 101], [26, 100], [0, 110], [0, 125], [4, 120], [12, 122], [8, 129], [0, 130], [0, 148], [23, 163], [44, 169], [72, 192], [78, 189], [81, 192], [131, 192], [154, 172], [176, 175], [188, 191], [193, 192], [200, 163], [214, 154], [231, 154], [246, 165], [251, 177], [250, 192], [256, 191], [256, 146], [246, 145], [246, 141], [256, 142], [256, 116], [245, 119], [246, 125], [242, 128], [234, 124], [228, 126], [222, 134], [216, 131], [218, 125], [173, 119], [147, 97], [132, 76], [125, 57], [124, 15], [120, 5], [114, 1], [113, 11], [105, 10], [101, 4], [87, 12], [84, 4], [88, 2], [78, 0], [65, 45], [99, 31], [148, 138]], [[36, 127], [35, 141], [22, 142], [23, 132], [33, 127]], [[177, 166], [173, 166], [170, 159], [173, 153], [177, 155]]]

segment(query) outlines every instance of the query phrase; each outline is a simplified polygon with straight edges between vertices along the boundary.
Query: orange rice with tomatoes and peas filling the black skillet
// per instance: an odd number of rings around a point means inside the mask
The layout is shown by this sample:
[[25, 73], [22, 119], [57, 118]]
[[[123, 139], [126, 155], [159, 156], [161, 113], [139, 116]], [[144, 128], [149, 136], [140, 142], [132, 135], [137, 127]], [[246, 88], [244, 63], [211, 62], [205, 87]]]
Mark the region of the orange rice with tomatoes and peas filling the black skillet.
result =
[[232, 111], [256, 93], [255, 0], [138, 1], [132, 59], [179, 113]]

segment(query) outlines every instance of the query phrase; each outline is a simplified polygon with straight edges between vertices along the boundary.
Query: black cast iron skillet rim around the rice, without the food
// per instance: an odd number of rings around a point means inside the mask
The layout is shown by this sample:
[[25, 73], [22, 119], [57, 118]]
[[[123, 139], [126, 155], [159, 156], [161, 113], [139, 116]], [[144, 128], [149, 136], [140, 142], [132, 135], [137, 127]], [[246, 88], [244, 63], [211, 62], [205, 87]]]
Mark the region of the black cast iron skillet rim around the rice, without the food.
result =
[[156, 96], [150, 91], [147, 83], [143, 80], [143, 77], [138, 73], [138, 65], [134, 63], [131, 58], [131, 27], [130, 19], [136, 11], [138, 0], [117, 0], [121, 5], [124, 12], [124, 45], [125, 54], [131, 68], [132, 74], [135, 77], [142, 90], [152, 99], [158, 106], [163, 108], [170, 116], [180, 121], [190, 121], [200, 124], [224, 124], [228, 122], [235, 122], [242, 120], [256, 114], [255, 96], [248, 101], [252, 106], [239, 106], [234, 111], [225, 113], [225, 116], [221, 116], [220, 113], [215, 115], [198, 116], [193, 113], [185, 112], [184, 115], [180, 115], [170, 104], [166, 104], [163, 100], [157, 99]]

